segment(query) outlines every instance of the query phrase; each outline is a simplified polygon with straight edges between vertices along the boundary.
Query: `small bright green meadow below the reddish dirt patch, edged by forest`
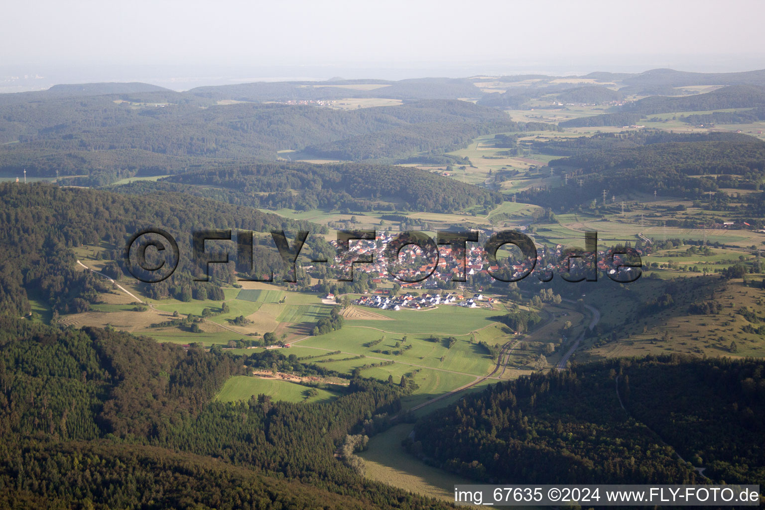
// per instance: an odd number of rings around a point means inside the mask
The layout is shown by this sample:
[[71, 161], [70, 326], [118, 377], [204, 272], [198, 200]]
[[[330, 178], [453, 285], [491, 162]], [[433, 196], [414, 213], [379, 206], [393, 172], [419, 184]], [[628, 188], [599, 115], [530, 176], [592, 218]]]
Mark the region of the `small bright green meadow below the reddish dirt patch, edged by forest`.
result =
[[224, 402], [248, 401], [256, 395], [269, 395], [275, 401], [288, 402], [326, 402], [337, 398], [340, 393], [316, 388], [317, 395], [306, 399], [308, 387], [294, 382], [270, 380], [249, 375], [235, 375], [226, 381], [216, 400]]

